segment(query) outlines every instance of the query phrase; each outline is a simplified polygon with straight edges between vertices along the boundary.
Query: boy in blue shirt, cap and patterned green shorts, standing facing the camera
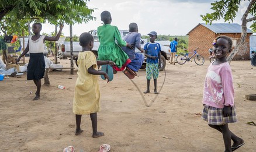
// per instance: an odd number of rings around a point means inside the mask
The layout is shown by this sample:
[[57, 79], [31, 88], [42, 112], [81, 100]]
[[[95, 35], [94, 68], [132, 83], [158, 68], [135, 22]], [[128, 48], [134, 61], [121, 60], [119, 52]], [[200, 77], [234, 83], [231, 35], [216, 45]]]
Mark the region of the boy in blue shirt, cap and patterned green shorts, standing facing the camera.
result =
[[157, 38], [157, 33], [155, 31], [151, 31], [148, 35], [150, 36], [150, 42], [144, 45], [145, 56], [147, 57], [147, 90], [144, 91], [144, 93], [150, 93], [150, 79], [153, 76], [155, 87], [154, 93], [158, 94], [157, 78], [159, 74], [159, 68], [161, 66], [161, 47], [159, 43], [155, 43], [155, 39]]

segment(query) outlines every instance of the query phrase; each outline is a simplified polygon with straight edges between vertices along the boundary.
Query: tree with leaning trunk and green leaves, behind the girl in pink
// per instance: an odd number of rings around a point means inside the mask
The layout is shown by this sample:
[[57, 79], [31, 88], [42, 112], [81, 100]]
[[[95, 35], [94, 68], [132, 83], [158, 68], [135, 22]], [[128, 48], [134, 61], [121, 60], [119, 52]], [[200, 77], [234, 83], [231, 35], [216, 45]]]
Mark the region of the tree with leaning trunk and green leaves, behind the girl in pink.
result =
[[[244, 0], [245, 1], [245, 0]], [[229, 56], [227, 56], [227, 61], [230, 63], [234, 56], [237, 54], [239, 50], [243, 50], [246, 46], [245, 38], [247, 36], [247, 23], [252, 22], [251, 28], [256, 32], [256, 0], [248, 0], [249, 5], [244, 12], [244, 15], [241, 19], [242, 30], [241, 30], [241, 38], [238, 41], [236, 47], [231, 52]], [[213, 20], [224, 19], [225, 22], [230, 21], [233, 22], [236, 17], [236, 13], [238, 11], [238, 6], [240, 5], [241, 0], [221, 0], [215, 1], [211, 3], [213, 13], [206, 13], [206, 15], [201, 15], [202, 19], [206, 23], [212, 23]], [[252, 17], [247, 18], [248, 14], [251, 14]]]

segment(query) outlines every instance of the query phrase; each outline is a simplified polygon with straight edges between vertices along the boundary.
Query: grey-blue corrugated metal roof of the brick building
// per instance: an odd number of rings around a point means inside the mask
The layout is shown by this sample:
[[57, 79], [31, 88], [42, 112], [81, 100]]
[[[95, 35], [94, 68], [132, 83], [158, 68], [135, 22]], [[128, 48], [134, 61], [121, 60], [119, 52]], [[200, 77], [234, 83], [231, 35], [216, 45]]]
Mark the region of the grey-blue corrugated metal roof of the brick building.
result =
[[[218, 34], [218, 33], [241, 33], [241, 30], [242, 30], [241, 25], [237, 24], [237, 23], [212, 23], [211, 25], [205, 24], [205, 23], [199, 23], [199, 24], [202, 26], [205, 26], [207, 29], [213, 31], [216, 34]], [[199, 24], [196, 27], [198, 27]], [[196, 27], [194, 27], [193, 29], [195, 29]], [[189, 33], [191, 31], [189, 31]], [[252, 31], [250, 29], [247, 29], [247, 33], [252, 33]]]

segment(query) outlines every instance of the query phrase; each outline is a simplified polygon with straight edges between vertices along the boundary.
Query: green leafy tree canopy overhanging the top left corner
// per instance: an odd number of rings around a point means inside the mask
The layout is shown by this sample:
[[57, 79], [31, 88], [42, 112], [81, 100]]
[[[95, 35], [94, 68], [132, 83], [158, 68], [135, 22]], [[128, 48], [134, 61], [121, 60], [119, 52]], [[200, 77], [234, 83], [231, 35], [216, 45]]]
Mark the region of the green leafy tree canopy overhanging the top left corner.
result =
[[89, 9], [88, 0], [1, 0], [0, 29], [5, 34], [21, 33], [27, 23], [87, 23], [96, 18], [91, 16], [95, 9]]

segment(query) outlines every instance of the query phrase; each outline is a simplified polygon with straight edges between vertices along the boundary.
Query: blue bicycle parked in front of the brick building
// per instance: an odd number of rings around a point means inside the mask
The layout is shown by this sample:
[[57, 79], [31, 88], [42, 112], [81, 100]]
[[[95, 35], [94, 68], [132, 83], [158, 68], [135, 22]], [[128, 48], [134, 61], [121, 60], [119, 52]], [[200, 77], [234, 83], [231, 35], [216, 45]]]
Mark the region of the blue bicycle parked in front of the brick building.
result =
[[[185, 49], [184, 49], [185, 50]], [[183, 65], [184, 63], [186, 63], [186, 61], [191, 61], [191, 58], [194, 57], [194, 61], [197, 65], [203, 65], [203, 63], [205, 63], [205, 58], [203, 58], [202, 55], [199, 55], [198, 52], [197, 52], [198, 48], [196, 48], [196, 50], [192, 51], [192, 52], [187, 52], [187, 50], [185, 50], [186, 52], [185, 53], [181, 53], [177, 56], [176, 58], [176, 61], [177, 63], [179, 63], [180, 65]], [[191, 57], [189, 57], [189, 54], [192, 54], [193, 55]]]

